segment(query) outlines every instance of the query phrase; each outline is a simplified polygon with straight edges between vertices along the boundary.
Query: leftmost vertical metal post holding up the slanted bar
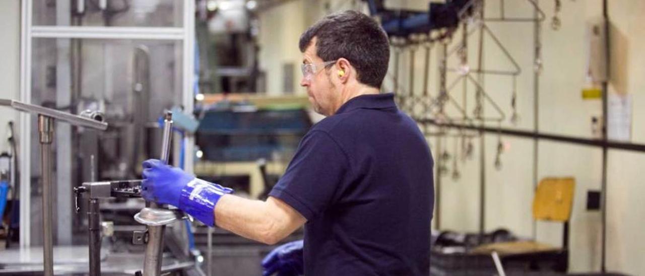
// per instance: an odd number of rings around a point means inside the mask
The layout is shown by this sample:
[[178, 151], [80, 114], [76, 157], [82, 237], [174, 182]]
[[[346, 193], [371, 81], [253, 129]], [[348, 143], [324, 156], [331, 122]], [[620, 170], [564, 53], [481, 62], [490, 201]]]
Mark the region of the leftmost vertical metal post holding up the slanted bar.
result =
[[52, 140], [54, 118], [38, 115], [41, 143], [41, 172], [43, 175], [43, 273], [54, 275], [54, 246], [52, 244]]

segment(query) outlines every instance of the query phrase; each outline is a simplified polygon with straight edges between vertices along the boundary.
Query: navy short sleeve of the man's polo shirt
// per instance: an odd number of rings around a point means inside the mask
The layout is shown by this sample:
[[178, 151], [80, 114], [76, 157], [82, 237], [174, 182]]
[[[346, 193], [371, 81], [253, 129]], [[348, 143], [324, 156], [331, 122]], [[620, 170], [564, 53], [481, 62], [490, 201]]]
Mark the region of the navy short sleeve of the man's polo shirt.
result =
[[313, 130], [304, 136], [269, 195], [311, 220], [333, 203], [335, 193], [348, 179], [349, 164], [341, 146], [328, 133]]

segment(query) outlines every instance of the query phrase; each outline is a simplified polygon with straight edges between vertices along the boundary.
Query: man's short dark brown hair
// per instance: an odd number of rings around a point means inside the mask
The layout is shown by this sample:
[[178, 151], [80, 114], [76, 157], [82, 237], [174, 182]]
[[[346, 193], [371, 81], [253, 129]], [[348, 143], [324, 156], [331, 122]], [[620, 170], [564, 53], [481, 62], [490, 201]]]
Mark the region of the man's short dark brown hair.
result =
[[381, 88], [390, 61], [390, 44], [379, 23], [353, 10], [330, 14], [308, 28], [300, 37], [304, 52], [316, 37], [316, 52], [323, 61], [344, 57], [358, 72], [363, 84]]

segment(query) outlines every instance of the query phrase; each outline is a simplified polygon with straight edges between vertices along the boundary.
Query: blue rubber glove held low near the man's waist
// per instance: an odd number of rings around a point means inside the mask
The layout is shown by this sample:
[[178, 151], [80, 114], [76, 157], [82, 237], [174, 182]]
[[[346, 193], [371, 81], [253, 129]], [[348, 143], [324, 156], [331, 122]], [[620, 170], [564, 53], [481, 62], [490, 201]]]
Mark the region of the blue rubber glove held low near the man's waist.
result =
[[304, 274], [303, 240], [287, 242], [268, 253], [262, 260], [263, 276], [296, 276]]

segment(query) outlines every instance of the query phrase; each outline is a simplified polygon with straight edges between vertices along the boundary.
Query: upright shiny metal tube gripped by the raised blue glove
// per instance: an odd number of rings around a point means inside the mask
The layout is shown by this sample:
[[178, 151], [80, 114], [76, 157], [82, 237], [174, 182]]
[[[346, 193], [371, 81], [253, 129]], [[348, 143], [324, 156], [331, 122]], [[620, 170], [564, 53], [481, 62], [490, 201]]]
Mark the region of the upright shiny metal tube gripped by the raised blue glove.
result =
[[[164, 114], [163, 140], [161, 144], [161, 156], [159, 159], [168, 164], [170, 156], [170, 146], [172, 139], [172, 112]], [[155, 202], [150, 202], [151, 208], [161, 208]], [[166, 226], [148, 226], [148, 243], [146, 244], [146, 253], [143, 261], [144, 276], [161, 275], [161, 255], [163, 253], [163, 235]]]

